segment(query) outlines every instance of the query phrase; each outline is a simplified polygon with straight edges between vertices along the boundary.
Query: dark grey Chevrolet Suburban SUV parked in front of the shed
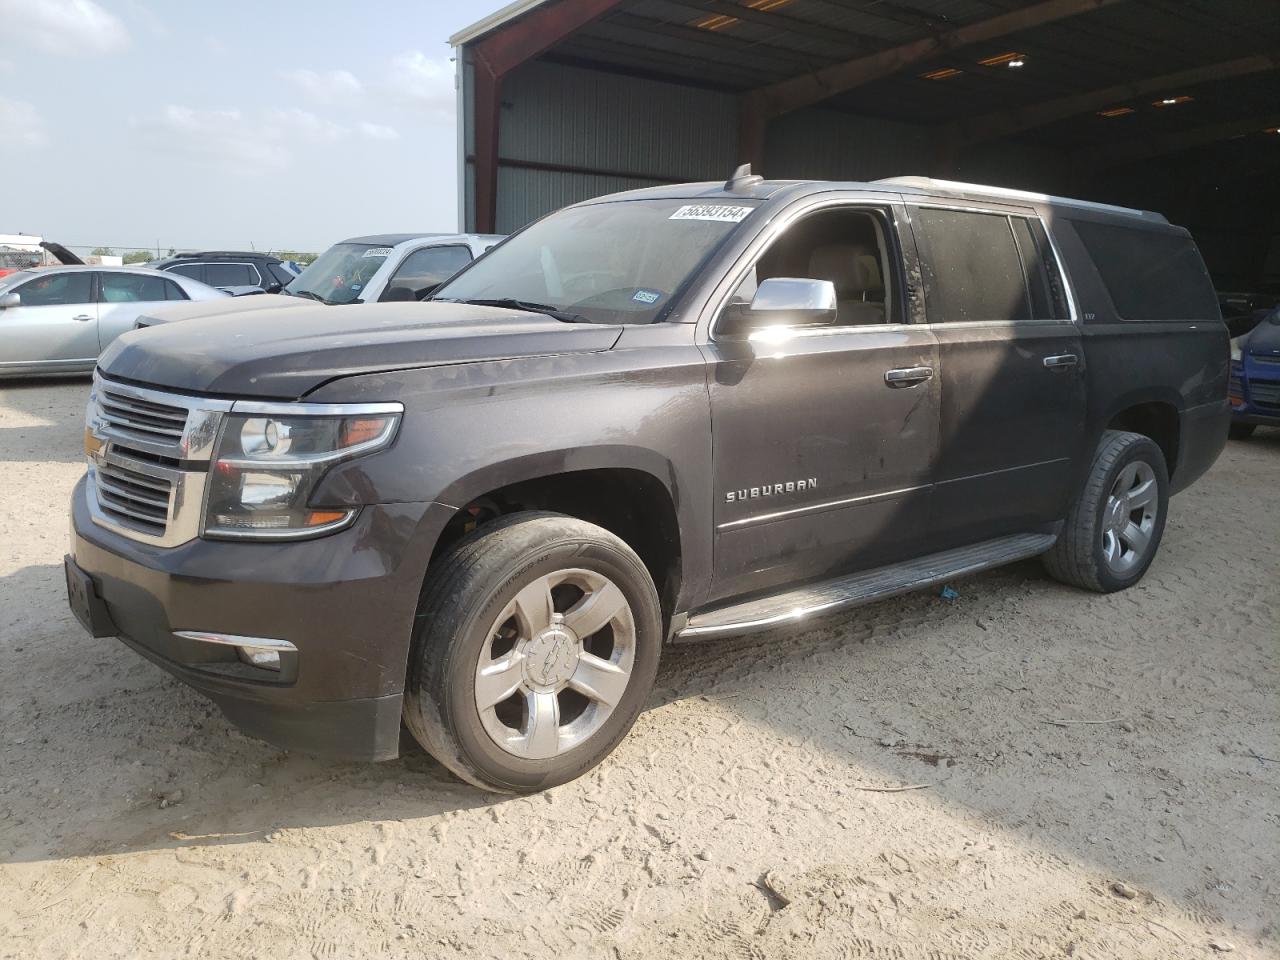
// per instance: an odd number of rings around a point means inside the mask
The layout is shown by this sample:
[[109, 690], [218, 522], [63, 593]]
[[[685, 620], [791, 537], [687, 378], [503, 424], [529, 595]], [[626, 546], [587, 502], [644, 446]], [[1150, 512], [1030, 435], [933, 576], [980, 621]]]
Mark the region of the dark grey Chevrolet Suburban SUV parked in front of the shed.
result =
[[388, 759], [403, 722], [536, 791], [609, 754], [666, 644], [1034, 556], [1132, 586], [1228, 378], [1162, 216], [740, 170], [566, 207], [430, 302], [120, 337], [69, 600], [251, 735]]

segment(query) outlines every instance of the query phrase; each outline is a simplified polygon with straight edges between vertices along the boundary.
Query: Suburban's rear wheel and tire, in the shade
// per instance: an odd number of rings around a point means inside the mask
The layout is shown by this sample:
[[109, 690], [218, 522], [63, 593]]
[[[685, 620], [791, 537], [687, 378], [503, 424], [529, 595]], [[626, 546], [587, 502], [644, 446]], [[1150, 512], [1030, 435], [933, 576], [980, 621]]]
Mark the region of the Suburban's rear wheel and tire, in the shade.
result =
[[1160, 447], [1142, 434], [1107, 430], [1061, 536], [1043, 556], [1044, 568], [1085, 590], [1130, 588], [1155, 559], [1167, 513], [1169, 468]]

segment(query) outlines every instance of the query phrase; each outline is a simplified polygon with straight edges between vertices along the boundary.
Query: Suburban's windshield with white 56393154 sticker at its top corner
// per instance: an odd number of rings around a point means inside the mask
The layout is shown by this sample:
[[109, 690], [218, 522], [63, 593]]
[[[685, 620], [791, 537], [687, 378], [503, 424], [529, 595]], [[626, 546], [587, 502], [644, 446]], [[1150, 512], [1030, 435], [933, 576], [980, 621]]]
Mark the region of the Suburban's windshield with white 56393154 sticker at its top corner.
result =
[[630, 200], [539, 220], [433, 300], [520, 301], [596, 324], [649, 324], [755, 201]]

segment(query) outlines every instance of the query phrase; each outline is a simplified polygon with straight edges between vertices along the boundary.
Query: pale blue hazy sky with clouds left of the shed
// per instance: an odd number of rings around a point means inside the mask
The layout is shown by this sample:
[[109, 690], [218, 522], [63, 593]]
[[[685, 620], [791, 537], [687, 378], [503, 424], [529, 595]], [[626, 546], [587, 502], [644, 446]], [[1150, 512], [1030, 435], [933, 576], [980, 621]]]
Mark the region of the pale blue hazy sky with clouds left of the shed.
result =
[[457, 229], [448, 37], [507, 0], [0, 0], [0, 234], [320, 251]]

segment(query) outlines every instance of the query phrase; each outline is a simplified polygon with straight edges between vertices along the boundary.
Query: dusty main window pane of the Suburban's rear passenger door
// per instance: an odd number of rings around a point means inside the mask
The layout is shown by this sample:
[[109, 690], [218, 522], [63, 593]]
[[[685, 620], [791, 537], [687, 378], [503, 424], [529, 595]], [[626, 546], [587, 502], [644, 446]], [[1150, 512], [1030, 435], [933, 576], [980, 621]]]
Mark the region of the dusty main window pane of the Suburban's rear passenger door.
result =
[[[1034, 316], [1023, 255], [1007, 215], [915, 207], [911, 223], [920, 246], [929, 323]], [[1042, 292], [1043, 297], [1047, 293]]]

